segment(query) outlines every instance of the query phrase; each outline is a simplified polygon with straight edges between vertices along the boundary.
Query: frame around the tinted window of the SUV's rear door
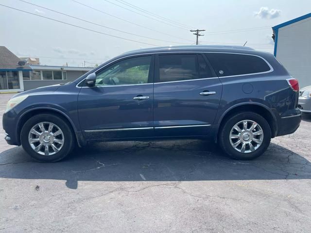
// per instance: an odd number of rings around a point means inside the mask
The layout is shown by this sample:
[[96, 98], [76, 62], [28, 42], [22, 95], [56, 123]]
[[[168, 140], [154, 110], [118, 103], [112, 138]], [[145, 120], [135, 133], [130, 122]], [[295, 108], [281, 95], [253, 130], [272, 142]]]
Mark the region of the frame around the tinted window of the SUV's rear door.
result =
[[[159, 56], [161, 55], [196, 55], [196, 65], [200, 65], [199, 64], [199, 55], [201, 55], [203, 57], [203, 60], [206, 62], [207, 67], [210, 69], [212, 77], [208, 77], [208, 78], [200, 78], [201, 74], [200, 74], [200, 67], [198, 67], [198, 79], [187, 79], [187, 80], [177, 80], [177, 81], [166, 81], [166, 82], [160, 82], [160, 61], [159, 61]], [[215, 73], [214, 68], [210, 65], [209, 61], [207, 60], [206, 56], [203, 54], [203, 52], [187, 52], [187, 51], [183, 51], [183, 52], [160, 52], [160, 53], [155, 53], [155, 84], [157, 83], [178, 83], [178, 82], [190, 82], [190, 81], [198, 81], [198, 80], [207, 80], [207, 79], [218, 79], [218, 76]]]

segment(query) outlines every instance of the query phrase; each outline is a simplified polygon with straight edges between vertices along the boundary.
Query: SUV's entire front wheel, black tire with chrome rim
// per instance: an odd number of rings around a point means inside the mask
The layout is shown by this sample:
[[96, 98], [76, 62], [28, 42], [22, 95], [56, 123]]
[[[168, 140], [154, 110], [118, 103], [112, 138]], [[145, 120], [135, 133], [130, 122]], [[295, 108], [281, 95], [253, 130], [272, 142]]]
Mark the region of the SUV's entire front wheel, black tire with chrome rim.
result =
[[22, 147], [38, 162], [60, 161], [73, 150], [75, 145], [74, 135], [69, 125], [63, 118], [53, 114], [38, 114], [31, 117], [23, 125], [20, 134]]

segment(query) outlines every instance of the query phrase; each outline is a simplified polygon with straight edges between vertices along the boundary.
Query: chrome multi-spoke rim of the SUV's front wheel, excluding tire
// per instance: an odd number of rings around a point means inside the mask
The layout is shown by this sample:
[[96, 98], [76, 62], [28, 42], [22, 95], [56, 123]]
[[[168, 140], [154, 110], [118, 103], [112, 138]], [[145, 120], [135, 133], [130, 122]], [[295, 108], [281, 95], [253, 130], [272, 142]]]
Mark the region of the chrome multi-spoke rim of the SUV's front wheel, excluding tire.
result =
[[62, 149], [64, 145], [64, 133], [51, 122], [35, 124], [29, 134], [28, 142], [38, 154], [51, 156]]

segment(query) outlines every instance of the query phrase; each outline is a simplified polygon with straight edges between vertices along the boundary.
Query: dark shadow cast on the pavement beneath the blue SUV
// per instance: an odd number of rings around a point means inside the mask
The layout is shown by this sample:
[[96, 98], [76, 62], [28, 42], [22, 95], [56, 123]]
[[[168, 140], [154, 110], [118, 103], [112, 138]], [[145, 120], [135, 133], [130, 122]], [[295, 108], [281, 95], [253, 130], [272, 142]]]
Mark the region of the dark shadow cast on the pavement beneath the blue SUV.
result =
[[0, 153], [0, 178], [79, 181], [230, 181], [311, 179], [311, 163], [281, 146], [252, 161], [226, 158], [200, 140], [106, 142], [76, 149], [58, 163], [33, 161], [21, 147]]

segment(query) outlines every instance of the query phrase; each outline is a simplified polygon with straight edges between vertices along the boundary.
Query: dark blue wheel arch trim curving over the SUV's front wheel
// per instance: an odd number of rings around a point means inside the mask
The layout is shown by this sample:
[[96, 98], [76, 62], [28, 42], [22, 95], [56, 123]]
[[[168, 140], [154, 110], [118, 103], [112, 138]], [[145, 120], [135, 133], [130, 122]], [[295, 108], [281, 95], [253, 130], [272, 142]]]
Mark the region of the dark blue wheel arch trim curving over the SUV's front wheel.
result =
[[48, 107], [44, 107], [44, 108], [34, 108], [34, 109], [30, 109], [28, 111], [26, 111], [25, 113], [23, 113], [20, 117], [19, 120], [17, 122], [17, 135], [19, 135], [19, 137], [17, 137], [18, 143], [20, 144], [20, 133], [21, 133], [21, 129], [23, 127], [23, 125], [25, 124], [25, 122], [32, 116], [38, 115], [38, 114], [52, 114], [52, 115], [56, 115], [59, 116], [60, 118], [62, 118], [66, 123], [68, 123], [69, 128], [71, 130], [71, 132], [75, 135], [76, 137], [76, 142], [78, 143], [78, 146], [81, 147], [81, 145], [83, 145], [83, 136], [82, 133], [78, 133], [76, 126], [74, 125], [74, 123], [72, 122], [72, 120], [69, 118], [69, 116], [67, 116], [64, 112], [55, 109], [55, 108], [48, 108]]

